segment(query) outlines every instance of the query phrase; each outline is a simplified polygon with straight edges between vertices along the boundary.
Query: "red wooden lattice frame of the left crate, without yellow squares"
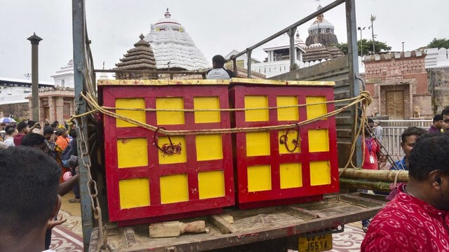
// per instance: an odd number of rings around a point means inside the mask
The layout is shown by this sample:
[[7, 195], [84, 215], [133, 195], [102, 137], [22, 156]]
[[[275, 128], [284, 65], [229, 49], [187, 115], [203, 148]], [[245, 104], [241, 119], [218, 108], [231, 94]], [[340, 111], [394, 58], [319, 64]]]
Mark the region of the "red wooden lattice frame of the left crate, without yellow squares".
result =
[[[221, 109], [229, 108], [227, 86], [223, 85], [182, 85], [182, 86], [103, 86], [103, 105], [115, 107], [117, 98], [144, 98], [146, 108], [156, 107], [156, 97], [182, 97], [185, 109], [194, 109], [194, 97], [218, 97]], [[185, 112], [184, 125], [158, 125], [156, 112], [146, 112], [146, 123], [166, 130], [196, 130], [229, 128], [228, 112], [220, 113], [220, 123], [195, 123], [194, 113]], [[109, 221], [120, 224], [142, 223], [151, 220], [167, 219], [170, 216], [179, 218], [179, 214], [195, 212], [204, 214], [210, 209], [215, 213], [222, 207], [234, 205], [234, 172], [232, 168], [232, 139], [230, 134], [222, 134], [222, 160], [196, 160], [195, 135], [185, 136], [187, 162], [170, 165], [159, 165], [151, 160], [158, 159], [158, 149], [154, 146], [154, 132], [142, 127], [116, 127], [116, 119], [105, 116], [105, 160], [107, 198], [109, 205]], [[158, 136], [163, 136], [158, 132]], [[147, 167], [118, 168], [117, 139], [145, 137], [148, 143]], [[212, 199], [199, 199], [198, 172], [222, 170], [225, 177], [225, 196]], [[187, 174], [189, 201], [161, 204], [159, 177], [170, 174]], [[149, 178], [150, 204], [146, 207], [121, 209], [119, 181], [122, 179]], [[137, 193], [137, 192], [136, 192]], [[166, 217], [163, 217], [166, 216]], [[159, 218], [161, 217], [161, 218]], [[128, 222], [127, 222], [128, 221]]]

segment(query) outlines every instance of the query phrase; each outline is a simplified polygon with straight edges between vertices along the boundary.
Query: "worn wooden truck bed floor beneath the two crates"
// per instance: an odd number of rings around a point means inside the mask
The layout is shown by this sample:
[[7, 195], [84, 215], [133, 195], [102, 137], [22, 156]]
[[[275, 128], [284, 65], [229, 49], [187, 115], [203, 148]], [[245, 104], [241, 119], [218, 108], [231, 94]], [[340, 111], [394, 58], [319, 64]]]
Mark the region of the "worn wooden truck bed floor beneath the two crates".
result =
[[[384, 197], [365, 193], [326, 195], [319, 202], [280, 207], [238, 210], [225, 209], [234, 218], [228, 223], [219, 215], [180, 220], [206, 221], [209, 233], [179, 237], [149, 238], [148, 225], [108, 228], [108, 244], [113, 251], [208, 251], [239, 246], [302, 233], [325, 230], [374, 216], [384, 207]], [[94, 228], [89, 251], [98, 246]]]

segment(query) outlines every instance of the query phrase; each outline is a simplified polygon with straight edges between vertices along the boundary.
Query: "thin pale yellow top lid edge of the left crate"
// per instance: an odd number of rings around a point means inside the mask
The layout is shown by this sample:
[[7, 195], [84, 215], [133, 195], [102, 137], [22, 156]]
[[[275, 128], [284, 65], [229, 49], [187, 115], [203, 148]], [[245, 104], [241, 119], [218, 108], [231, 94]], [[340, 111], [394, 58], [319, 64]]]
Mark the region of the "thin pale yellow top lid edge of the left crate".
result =
[[98, 80], [98, 85], [229, 85], [229, 82], [229, 80]]

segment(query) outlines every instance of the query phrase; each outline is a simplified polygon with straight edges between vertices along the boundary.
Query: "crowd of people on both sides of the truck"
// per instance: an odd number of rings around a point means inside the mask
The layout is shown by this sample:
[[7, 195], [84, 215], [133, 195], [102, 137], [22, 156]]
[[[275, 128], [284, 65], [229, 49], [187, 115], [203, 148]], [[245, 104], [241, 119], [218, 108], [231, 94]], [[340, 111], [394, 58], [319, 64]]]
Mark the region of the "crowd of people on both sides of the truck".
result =
[[[43, 127], [41, 127], [43, 126]], [[376, 127], [375, 127], [376, 126]], [[0, 141], [0, 251], [42, 251], [51, 243], [61, 196], [74, 190], [79, 202], [76, 130], [32, 120], [6, 127]], [[363, 220], [361, 251], [449, 251], [449, 106], [426, 132], [408, 127], [401, 135], [401, 160], [382, 157], [382, 128], [368, 119], [363, 169], [401, 169], [409, 173], [373, 220]], [[64, 181], [69, 170], [72, 178]], [[369, 228], [368, 228], [369, 227]]]

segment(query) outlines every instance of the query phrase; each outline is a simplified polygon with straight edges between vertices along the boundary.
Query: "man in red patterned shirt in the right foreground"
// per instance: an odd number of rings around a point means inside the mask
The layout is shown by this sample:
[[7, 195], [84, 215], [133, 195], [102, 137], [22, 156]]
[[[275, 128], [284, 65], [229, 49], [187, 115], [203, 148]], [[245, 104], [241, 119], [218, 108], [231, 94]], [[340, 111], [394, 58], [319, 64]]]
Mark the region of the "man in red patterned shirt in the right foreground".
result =
[[449, 134], [417, 139], [409, 181], [373, 219], [361, 251], [449, 251]]

